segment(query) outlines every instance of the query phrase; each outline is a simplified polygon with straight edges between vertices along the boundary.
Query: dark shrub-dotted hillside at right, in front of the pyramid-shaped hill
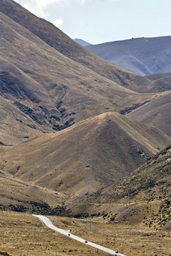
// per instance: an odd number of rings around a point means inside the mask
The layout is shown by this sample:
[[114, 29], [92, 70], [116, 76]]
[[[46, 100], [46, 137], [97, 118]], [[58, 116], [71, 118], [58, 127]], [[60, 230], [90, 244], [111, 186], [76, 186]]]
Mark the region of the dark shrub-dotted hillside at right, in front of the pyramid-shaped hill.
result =
[[123, 178], [111, 195], [113, 200], [156, 200], [167, 199], [171, 194], [171, 146], [148, 159], [145, 165]]

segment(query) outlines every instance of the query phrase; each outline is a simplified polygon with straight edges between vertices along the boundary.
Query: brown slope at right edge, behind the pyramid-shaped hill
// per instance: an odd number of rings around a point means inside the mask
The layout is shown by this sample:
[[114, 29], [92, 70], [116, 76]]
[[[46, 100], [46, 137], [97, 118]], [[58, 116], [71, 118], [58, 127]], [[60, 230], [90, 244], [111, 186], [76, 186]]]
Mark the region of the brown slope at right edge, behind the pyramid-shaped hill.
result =
[[129, 113], [129, 118], [140, 121], [142, 124], [151, 125], [161, 129], [165, 134], [171, 136], [171, 92], [155, 99], [141, 108]]

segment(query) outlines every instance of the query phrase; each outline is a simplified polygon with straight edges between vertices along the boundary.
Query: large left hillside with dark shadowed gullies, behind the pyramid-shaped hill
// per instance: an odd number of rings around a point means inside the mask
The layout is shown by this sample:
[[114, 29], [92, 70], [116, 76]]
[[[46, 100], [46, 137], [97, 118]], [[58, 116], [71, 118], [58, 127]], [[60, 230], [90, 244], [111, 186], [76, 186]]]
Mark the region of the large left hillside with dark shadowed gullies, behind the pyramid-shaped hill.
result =
[[15, 144], [155, 97], [119, 86], [1, 12], [0, 18], [1, 143]]

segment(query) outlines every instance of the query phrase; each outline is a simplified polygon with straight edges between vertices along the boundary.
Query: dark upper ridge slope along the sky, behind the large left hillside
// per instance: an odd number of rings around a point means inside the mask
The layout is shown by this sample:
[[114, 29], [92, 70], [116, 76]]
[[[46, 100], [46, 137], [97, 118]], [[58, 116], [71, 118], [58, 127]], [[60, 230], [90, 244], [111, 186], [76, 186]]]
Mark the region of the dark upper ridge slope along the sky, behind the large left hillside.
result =
[[50, 47], [55, 48], [58, 52], [69, 57], [69, 59], [77, 61], [103, 77], [113, 80], [115, 83], [133, 89], [134, 86], [138, 86], [140, 83], [146, 86], [149, 82], [147, 78], [133, 75], [130, 72], [124, 71], [121, 67], [117, 67], [94, 56], [86, 48], [81, 47], [56, 28], [52, 23], [42, 18], [37, 18], [31, 12], [28, 12], [28, 10], [20, 7], [15, 1], [0, 0], [0, 12], [15, 20], [15, 22], [20, 23], [21, 26], [45, 41]]

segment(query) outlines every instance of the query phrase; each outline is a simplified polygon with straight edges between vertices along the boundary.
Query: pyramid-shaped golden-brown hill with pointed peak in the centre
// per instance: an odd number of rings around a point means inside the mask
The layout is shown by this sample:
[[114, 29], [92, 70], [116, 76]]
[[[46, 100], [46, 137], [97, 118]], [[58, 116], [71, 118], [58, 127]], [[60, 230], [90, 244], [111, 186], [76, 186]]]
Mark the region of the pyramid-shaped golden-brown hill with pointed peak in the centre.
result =
[[64, 193], [68, 202], [82, 198], [83, 203], [86, 195], [118, 184], [169, 143], [153, 127], [104, 113], [17, 146], [1, 146], [1, 166], [29, 184]]

